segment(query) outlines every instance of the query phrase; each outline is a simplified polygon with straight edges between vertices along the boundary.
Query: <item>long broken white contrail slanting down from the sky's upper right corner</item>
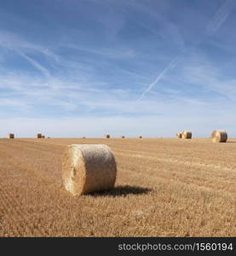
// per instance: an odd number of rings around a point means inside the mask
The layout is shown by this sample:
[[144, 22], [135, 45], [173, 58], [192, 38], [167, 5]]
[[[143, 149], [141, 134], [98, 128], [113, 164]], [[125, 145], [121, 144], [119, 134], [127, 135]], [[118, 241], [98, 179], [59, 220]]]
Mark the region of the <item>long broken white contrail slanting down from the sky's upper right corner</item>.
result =
[[[218, 9], [218, 11], [216, 12], [216, 15], [213, 16], [213, 18], [209, 21], [209, 23], [205, 27], [204, 35], [206, 35], [206, 36], [213, 35], [220, 28], [220, 26], [222, 26], [222, 24], [225, 22], [225, 20], [227, 20], [227, 17], [231, 14], [231, 12], [233, 11], [233, 9], [235, 7], [236, 7], [236, 0], [227, 0], [222, 5], [222, 7], [220, 9]], [[198, 45], [202, 40], [203, 40], [203, 38], [199, 39], [190, 48]], [[147, 89], [142, 92], [142, 94], [138, 98], [137, 102], [140, 101], [143, 98], [143, 96], [145, 96], [147, 94], [147, 92], [149, 92], [150, 90], [153, 89], [153, 86], [155, 84], [157, 84], [160, 79], [162, 79], [164, 77], [165, 73], [167, 73], [171, 68], [173, 68], [175, 66], [179, 56], [185, 51], [186, 51], [186, 49], [185, 50], [182, 49], [181, 53], [179, 55], [177, 55], [176, 58], [174, 58], [172, 61], [170, 61], [168, 66], [165, 67], [164, 70], [158, 75], [157, 79], [155, 79], [152, 84], [149, 84]]]

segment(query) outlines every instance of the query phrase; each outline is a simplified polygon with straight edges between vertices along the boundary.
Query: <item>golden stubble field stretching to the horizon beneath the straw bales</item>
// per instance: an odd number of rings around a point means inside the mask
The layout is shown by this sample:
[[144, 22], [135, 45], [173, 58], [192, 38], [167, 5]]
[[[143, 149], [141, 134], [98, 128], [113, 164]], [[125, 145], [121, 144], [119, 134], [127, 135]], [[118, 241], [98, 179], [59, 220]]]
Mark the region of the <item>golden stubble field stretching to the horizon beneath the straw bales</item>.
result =
[[[111, 191], [72, 196], [66, 145], [104, 143]], [[236, 236], [236, 139], [1, 139], [0, 236]]]

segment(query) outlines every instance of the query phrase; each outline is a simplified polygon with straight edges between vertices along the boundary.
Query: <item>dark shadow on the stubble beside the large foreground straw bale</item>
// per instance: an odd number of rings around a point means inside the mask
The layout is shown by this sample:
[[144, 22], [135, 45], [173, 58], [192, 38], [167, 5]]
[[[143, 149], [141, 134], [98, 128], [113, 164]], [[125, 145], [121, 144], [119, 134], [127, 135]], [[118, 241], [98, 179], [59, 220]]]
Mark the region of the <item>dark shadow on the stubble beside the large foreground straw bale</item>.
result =
[[147, 194], [152, 189], [148, 188], [141, 188], [137, 186], [118, 186], [111, 190], [106, 191], [100, 191], [100, 192], [94, 192], [90, 193], [89, 195], [93, 196], [126, 196], [126, 195], [141, 195], [141, 194]]

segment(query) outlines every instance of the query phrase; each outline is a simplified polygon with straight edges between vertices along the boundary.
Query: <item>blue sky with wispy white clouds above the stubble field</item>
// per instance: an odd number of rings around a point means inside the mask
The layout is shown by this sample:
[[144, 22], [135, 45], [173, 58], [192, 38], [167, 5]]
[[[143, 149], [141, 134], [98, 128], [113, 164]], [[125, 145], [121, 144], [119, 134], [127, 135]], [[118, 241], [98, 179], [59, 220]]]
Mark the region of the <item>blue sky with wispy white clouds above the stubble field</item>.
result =
[[234, 0], [0, 2], [0, 137], [236, 137]]

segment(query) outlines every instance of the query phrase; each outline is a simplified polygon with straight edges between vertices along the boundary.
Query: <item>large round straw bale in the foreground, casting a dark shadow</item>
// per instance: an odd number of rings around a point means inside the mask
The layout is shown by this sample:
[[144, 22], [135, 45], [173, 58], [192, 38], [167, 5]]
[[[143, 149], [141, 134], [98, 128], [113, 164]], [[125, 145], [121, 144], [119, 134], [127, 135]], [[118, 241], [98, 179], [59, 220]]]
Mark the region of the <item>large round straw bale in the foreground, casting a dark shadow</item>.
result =
[[72, 144], [62, 160], [62, 181], [72, 195], [112, 189], [116, 181], [116, 160], [103, 144]]

